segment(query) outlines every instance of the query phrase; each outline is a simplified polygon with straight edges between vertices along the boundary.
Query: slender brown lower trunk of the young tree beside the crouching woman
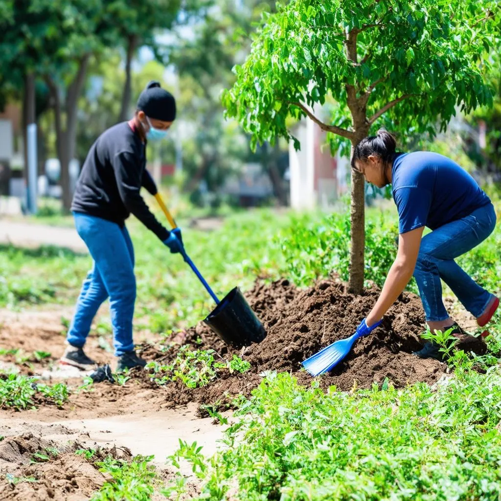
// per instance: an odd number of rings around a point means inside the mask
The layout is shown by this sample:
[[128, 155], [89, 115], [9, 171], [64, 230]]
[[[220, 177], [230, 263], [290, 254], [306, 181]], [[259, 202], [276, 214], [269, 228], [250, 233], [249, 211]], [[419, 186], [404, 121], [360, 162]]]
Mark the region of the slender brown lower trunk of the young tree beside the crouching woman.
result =
[[[355, 146], [352, 143], [351, 157]], [[350, 279], [348, 290], [353, 294], [360, 294], [364, 288], [364, 248], [365, 248], [365, 197], [364, 176], [351, 169], [351, 251], [350, 251]]]

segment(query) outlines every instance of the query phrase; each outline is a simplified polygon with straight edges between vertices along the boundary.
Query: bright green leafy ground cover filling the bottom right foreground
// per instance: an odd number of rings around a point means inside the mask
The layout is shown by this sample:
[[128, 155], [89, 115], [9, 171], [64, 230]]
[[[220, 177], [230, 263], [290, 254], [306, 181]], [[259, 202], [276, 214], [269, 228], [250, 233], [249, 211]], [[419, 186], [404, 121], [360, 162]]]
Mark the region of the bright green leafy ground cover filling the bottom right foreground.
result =
[[[494, 501], [501, 492], [501, 370], [456, 371], [431, 389], [327, 393], [271, 374], [240, 407], [226, 449], [171, 456], [202, 481], [194, 499]], [[239, 437], [239, 438], [237, 438]], [[166, 493], [182, 494], [183, 483]]]

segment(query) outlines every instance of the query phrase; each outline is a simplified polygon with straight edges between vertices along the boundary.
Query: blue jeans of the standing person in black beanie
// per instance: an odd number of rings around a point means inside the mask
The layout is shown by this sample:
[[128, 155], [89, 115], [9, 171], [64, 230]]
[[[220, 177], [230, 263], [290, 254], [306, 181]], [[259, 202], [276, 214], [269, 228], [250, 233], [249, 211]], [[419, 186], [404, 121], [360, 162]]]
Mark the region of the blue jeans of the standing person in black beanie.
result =
[[92, 270], [84, 280], [67, 341], [85, 344], [101, 304], [110, 298], [113, 346], [118, 357], [134, 349], [132, 317], [136, 301], [134, 248], [125, 226], [74, 212], [77, 232], [92, 256]]

